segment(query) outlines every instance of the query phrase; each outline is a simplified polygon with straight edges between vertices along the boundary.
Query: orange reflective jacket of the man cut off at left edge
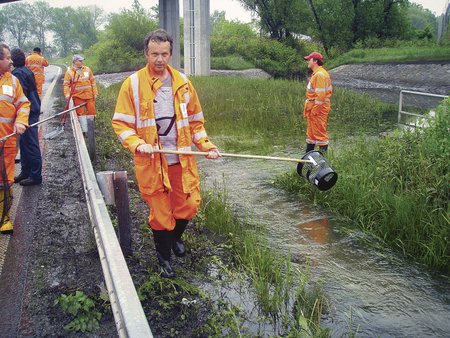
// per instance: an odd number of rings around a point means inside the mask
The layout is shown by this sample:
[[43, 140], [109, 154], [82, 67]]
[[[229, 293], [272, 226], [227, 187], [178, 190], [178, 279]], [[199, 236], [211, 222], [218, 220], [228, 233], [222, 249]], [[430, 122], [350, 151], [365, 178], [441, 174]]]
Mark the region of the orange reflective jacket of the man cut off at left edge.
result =
[[[23, 93], [19, 79], [11, 73], [0, 78], [0, 138], [14, 132], [16, 122], [28, 126], [30, 101]], [[5, 147], [15, 147], [16, 138], [10, 137]]]

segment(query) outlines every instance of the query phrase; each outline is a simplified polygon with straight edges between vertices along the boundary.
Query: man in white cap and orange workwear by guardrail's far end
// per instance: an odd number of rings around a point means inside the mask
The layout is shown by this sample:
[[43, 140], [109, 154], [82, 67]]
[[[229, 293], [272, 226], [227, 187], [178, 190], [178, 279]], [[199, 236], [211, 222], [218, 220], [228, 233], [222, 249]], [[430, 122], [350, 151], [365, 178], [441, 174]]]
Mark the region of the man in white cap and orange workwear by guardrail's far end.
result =
[[64, 75], [64, 96], [72, 99], [78, 106], [86, 102], [86, 105], [77, 108], [78, 120], [83, 132], [87, 132], [87, 120], [95, 119], [97, 115], [95, 100], [98, 97], [97, 81], [92, 70], [83, 65], [84, 57], [75, 54], [72, 58], [73, 66], [69, 67]]

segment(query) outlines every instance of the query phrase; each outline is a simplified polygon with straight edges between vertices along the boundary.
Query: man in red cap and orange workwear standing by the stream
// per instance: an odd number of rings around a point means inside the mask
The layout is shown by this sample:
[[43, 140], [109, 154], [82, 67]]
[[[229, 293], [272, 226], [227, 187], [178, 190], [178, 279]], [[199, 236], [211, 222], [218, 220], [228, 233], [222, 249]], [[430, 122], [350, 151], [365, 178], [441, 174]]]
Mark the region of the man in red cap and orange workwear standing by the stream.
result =
[[330, 98], [333, 94], [331, 78], [322, 67], [323, 56], [312, 52], [304, 59], [312, 75], [306, 87], [306, 101], [303, 116], [306, 118], [306, 152], [314, 150], [318, 145], [321, 152], [328, 150], [328, 113], [331, 109]]

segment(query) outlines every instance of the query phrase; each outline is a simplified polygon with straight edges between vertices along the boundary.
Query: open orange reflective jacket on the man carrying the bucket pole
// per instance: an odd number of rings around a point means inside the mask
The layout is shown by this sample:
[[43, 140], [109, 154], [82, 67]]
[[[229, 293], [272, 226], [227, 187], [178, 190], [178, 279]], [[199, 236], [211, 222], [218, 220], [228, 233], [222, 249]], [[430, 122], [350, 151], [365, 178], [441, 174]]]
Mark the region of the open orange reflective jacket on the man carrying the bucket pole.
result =
[[[204, 128], [204, 117], [195, 88], [186, 75], [167, 66], [172, 77], [177, 149], [191, 151], [192, 144], [200, 151], [216, 148]], [[158, 132], [153, 100], [162, 86], [161, 80], [150, 74], [148, 65], [128, 77], [122, 84], [113, 116], [112, 126], [122, 145], [134, 154], [134, 166], [139, 191], [151, 195], [171, 191], [165, 156], [154, 158], [136, 152], [141, 144], [158, 146]], [[194, 155], [179, 155], [184, 193], [200, 188], [200, 177]]]

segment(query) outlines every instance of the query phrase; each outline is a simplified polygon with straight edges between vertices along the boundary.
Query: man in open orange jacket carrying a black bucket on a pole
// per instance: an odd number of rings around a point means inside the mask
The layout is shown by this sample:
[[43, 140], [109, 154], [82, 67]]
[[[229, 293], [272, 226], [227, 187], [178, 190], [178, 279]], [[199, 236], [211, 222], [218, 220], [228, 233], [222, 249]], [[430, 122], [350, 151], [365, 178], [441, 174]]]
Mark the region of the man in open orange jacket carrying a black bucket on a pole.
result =
[[163, 155], [154, 149], [190, 151], [193, 144], [221, 157], [204, 128], [194, 86], [169, 65], [172, 37], [160, 29], [144, 40], [147, 66], [128, 77], [117, 99], [112, 125], [122, 145], [134, 154], [139, 191], [150, 207], [162, 276], [175, 276], [171, 251], [186, 254], [181, 236], [200, 206], [200, 177], [193, 155]]

